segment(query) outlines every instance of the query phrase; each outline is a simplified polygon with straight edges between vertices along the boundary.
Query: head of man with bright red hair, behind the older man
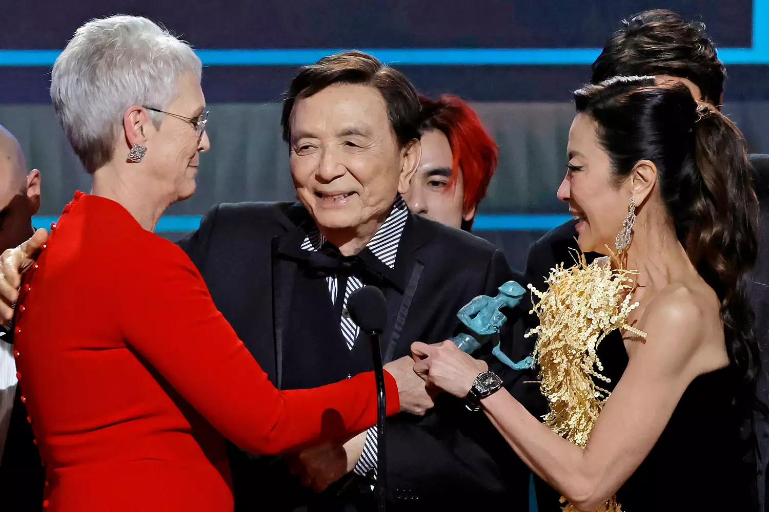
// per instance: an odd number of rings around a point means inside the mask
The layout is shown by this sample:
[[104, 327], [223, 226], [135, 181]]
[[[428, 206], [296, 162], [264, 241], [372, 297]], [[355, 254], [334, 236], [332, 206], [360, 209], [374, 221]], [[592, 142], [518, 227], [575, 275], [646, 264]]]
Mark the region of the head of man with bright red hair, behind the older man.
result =
[[403, 198], [412, 212], [469, 231], [497, 168], [497, 144], [461, 98], [419, 99], [422, 156]]

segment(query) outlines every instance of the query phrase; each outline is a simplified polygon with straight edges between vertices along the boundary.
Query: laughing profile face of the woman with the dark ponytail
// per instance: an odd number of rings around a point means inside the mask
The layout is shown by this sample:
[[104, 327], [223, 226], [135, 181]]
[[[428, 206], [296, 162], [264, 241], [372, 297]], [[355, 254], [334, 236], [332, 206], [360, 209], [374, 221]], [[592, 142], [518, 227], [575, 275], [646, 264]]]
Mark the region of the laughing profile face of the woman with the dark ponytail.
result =
[[584, 252], [608, 254], [622, 229], [631, 192], [618, 187], [611, 160], [601, 147], [596, 123], [588, 114], [577, 114], [569, 130], [568, 171], [558, 199], [569, 204], [577, 223], [578, 243]]

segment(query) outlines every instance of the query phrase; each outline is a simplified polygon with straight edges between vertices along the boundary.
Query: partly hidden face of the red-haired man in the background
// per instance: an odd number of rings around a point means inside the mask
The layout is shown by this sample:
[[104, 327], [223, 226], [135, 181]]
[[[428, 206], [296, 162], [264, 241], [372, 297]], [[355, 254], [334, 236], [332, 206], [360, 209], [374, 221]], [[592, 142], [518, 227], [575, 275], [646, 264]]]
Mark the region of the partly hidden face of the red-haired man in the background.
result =
[[411, 211], [447, 226], [461, 227], [471, 220], [475, 210], [464, 214], [464, 182], [462, 173], [451, 180], [454, 157], [448, 138], [441, 130], [429, 130], [421, 137], [422, 157], [408, 193], [403, 198]]

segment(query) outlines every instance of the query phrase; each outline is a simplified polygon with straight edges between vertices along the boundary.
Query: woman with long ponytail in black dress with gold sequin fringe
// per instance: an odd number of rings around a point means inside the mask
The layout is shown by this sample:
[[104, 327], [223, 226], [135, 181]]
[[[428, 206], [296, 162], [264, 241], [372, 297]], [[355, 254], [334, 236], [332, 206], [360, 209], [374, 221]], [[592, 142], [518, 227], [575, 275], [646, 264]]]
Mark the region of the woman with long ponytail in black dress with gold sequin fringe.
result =
[[564, 510], [746, 510], [757, 200], [743, 137], [651, 77], [574, 99], [558, 197], [581, 250], [606, 257], [533, 290], [544, 424], [451, 342], [415, 343], [415, 370], [480, 405]]

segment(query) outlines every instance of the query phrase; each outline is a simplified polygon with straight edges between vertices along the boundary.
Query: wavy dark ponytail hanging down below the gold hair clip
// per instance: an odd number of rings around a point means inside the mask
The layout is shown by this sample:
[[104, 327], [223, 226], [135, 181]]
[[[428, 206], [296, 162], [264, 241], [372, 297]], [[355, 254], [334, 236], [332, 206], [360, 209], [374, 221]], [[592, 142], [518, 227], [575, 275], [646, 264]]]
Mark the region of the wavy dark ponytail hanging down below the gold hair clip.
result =
[[694, 120], [695, 180], [685, 248], [697, 272], [721, 299], [721, 321], [731, 365], [741, 376], [741, 408], [761, 408], [756, 384], [761, 358], [747, 299], [747, 270], [758, 252], [758, 200], [740, 130], [707, 103]]

